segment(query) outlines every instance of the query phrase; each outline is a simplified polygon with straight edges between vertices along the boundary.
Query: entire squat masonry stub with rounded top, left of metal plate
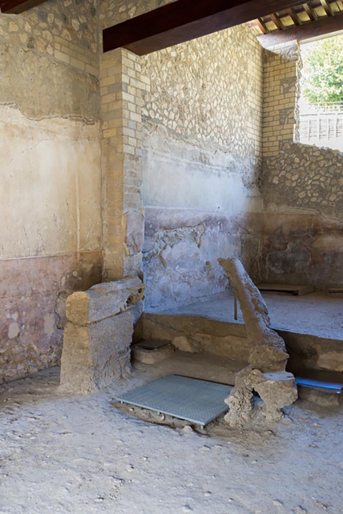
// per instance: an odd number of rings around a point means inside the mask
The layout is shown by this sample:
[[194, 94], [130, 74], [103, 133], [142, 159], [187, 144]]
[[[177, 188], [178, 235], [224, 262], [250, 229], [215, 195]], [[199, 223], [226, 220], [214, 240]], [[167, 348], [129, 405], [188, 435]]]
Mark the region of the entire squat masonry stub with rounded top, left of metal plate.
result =
[[145, 285], [138, 278], [97, 284], [67, 298], [60, 384], [87, 393], [130, 372], [134, 315]]

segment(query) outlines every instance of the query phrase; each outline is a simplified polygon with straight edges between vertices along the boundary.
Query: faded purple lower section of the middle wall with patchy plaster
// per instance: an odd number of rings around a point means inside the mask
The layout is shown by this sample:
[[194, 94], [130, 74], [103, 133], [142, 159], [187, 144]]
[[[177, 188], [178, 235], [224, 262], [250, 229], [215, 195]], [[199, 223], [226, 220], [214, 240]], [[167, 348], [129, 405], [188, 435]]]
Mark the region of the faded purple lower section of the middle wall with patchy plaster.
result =
[[225, 216], [183, 209], [146, 209], [144, 279], [146, 310], [187, 305], [225, 292], [228, 280], [217, 259], [242, 255], [259, 277], [261, 214]]

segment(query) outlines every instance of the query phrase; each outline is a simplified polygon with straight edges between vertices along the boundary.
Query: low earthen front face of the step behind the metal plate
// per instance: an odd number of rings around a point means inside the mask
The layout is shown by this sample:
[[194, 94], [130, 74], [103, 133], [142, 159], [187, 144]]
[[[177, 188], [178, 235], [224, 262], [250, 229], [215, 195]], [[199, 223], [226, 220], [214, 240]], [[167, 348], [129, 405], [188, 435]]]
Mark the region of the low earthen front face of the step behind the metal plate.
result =
[[[286, 343], [290, 355], [288, 371], [296, 376], [299, 369], [326, 369], [329, 372], [343, 370], [343, 339], [322, 337], [314, 333], [302, 333], [298, 328], [272, 328]], [[333, 331], [334, 332], [334, 331]], [[198, 345], [198, 350], [231, 360], [249, 359], [250, 344], [242, 322], [219, 321], [196, 314], [143, 313], [135, 327], [135, 340], [157, 339], [174, 341], [185, 336]], [[330, 381], [330, 380], [329, 380]]]

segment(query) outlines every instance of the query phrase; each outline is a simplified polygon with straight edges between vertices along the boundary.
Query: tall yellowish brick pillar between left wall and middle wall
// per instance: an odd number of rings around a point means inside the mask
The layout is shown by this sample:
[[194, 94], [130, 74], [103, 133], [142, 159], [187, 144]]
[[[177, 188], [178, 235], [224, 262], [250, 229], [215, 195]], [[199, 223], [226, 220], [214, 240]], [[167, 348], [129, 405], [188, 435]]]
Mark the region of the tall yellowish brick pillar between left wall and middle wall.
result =
[[141, 275], [142, 90], [139, 57], [119, 48], [101, 62], [101, 170], [105, 281]]

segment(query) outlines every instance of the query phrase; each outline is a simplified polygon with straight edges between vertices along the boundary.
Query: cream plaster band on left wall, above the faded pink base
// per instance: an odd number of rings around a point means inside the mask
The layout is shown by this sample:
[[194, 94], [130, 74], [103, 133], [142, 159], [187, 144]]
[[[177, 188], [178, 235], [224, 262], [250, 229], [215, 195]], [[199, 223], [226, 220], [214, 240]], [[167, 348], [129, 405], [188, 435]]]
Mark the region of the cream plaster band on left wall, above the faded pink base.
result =
[[0, 258], [101, 248], [99, 124], [0, 106]]

